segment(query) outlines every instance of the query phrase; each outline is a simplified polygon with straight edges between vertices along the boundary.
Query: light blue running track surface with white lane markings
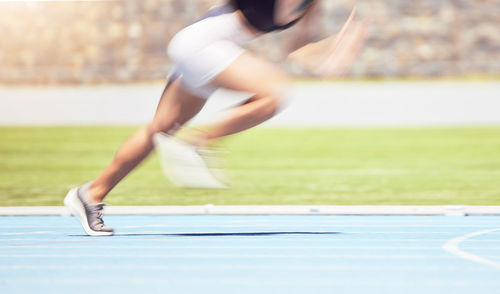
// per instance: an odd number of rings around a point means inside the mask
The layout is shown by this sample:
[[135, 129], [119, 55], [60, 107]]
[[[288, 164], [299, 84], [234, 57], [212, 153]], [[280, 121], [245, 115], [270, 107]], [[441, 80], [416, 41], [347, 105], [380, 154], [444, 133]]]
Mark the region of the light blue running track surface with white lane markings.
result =
[[[500, 293], [500, 217], [105, 221], [115, 236], [88, 237], [71, 217], [0, 217], [0, 293]], [[489, 264], [443, 249], [462, 236]]]

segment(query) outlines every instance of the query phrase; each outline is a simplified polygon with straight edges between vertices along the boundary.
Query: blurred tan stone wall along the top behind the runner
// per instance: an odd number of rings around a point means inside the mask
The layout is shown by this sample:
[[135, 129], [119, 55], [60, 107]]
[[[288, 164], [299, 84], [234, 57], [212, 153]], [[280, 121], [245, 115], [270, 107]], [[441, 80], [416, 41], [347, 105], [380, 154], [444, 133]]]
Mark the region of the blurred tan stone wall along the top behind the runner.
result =
[[[163, 79], [165, 48], [213, 0], [0, 1], [0, 84]], [[340, 28], [353, 5], [371, 21], [352, 77], [498, 77], [498, 0], [328, 0], [311, 40]], [[293, 31], [251, 49], [280, 62]], [[293, 70], [293, 69], [292, 69]]]

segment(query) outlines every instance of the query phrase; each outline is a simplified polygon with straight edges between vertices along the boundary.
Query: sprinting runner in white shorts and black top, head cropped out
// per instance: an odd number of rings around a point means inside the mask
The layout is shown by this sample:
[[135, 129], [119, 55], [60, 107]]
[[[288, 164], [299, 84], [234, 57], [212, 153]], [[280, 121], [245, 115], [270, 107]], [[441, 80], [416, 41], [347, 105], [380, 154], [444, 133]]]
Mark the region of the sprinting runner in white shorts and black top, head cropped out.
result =
[[[182, 157], [176, 161], [181, 169], [176, 169], [174, 181], [189, 185], [185, 178], [200, 180], [202, 177], [196, 173], [210, 173], [200, 150], [211, 146], [218, 138], [259, 125], [279, 111], [292, 88], [289, 76], [242, 46], [263, 34], [297, 23], [310, 25], [311, 21], [301, 19], [314, 16], [310, 12], [318, 9], [316, 2], [234, 0], [209, 11], [174, 36], [168, 55], [176, 64], [175, 71], [152, 122], [120, 147], [97, 179], [70, 190], [64, 200], [87, 234], [107, 236], [114, 233], [102, 220], [102, 201], [151, 153], [155, 141], [160, 149], [167, 146], [163, 149], [168, 150], [167, 153], [178, 151], [173, 157]], [[299, 48], [290, 54], [290, 62], [321, 77], [344, 74], [357, 56], [366, 34], [366, 24], [354, 22], [354, 14], [355, 10], [339, 34]], [[296, 37], [306, 39], [306, 36]], [[203, 108], [218, 88], [253, 93], [253, 96], [202, 132], [190, 134], [182, 142], [171, 138]], [[182, 169], [186, 164], [190, 168]], [[213, 177], [203, 186], [224, 185]]]

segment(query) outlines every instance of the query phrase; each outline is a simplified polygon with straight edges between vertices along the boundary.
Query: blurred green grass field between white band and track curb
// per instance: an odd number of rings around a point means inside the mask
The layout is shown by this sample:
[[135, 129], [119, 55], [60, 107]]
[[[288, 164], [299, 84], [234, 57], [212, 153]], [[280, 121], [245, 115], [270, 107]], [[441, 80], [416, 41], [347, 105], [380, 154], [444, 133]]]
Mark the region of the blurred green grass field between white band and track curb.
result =
[[[134, 127], [0, 128], [0, 205], [61, 205]], [[500, 127], [260, 128], [224, 142], [228, 190], [178, 189], [156, 155], [113, 205], [500, 205]]]

